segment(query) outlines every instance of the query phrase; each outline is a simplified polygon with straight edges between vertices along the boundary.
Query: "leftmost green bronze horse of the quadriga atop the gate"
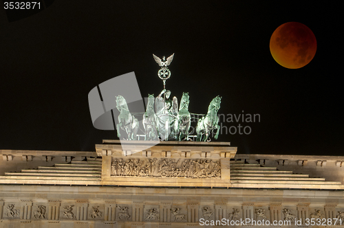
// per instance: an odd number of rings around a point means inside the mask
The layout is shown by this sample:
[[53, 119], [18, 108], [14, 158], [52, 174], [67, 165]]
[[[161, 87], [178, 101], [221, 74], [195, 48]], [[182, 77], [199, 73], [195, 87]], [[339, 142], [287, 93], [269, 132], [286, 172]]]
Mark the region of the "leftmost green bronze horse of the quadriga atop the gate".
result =
[[116, 126], [117, 136], [120, 137], [120, 129], [122, 129], [126, 131], [128, 140], [136, 140], [138, 119], [130, 113], [127, 102], [121, 95], [116, 97], [116, 103], [116, 108], [120, 111], [120, 115], [118, 115], [118, 124]]

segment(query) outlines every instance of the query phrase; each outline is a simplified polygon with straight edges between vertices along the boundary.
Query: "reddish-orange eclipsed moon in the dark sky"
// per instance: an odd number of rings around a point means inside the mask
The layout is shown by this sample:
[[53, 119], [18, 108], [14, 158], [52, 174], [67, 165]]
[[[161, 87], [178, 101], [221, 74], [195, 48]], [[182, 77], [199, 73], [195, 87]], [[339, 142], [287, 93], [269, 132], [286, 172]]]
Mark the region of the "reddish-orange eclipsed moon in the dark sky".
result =
[[312, 30], [302, 23], [284, 23], [270, 38], [270, 52], [279, 65], [298, 69], [314, 58], [316, 38]]

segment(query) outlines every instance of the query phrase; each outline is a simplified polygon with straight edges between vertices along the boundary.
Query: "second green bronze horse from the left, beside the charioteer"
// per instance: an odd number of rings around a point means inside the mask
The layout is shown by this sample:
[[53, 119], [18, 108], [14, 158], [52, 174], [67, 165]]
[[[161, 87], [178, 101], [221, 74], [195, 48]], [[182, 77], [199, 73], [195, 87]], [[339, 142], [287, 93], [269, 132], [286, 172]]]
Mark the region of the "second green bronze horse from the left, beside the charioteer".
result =
[[154, 112], [154, 95], [148, 95], [147, 109], [143, 114], [144, 140], [158, 140], [157, 116]]

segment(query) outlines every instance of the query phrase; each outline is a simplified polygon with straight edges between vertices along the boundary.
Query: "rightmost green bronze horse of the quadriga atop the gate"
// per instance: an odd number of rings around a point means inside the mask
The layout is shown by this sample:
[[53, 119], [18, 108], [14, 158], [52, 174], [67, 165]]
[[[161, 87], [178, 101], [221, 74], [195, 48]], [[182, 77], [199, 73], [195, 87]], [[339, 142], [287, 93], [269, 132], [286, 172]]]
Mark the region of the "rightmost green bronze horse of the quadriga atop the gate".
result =
[[[214, 98], [208, 106], [206, 117], [202, 117], [198, 121], [196, 126], [197, 141], [207, 141], [211, 130], [215, 129], [217, 129], [217, 132], [214, 138], [217, 139], [219, 137], [219, 117], [217, 116], [217, 111], [219, 111], [221, 99], [222, 97], [220, 96]], [[202, 139], [202, 135], [205, 135], [204, 139]]]

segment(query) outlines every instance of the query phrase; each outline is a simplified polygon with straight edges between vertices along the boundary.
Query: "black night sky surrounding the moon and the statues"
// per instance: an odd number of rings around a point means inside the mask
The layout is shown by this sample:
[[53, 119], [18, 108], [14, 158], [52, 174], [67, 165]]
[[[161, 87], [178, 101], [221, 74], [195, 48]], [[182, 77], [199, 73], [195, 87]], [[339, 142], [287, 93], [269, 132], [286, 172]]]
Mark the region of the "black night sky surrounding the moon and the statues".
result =
[[[240, 154], [342, 155], [341, 1], [55, 0], [9, 22], [0, 10], [0, 149], [94, 151], [115, 131], [92, 126], [87, 95], [135, 71], [142, 97], [163, 89], [152, 54], [170, 56], [171, 96], [189, 92], [191, 113], [259, 114], [249, 135], [230, 133]], [[279, 25], [307, 25], [317, 41], [310, 64], [272, 58]], [[117, 116], [116, 116], [117, 117]], [[143, 128], [140, 126], [140, 128]]]

